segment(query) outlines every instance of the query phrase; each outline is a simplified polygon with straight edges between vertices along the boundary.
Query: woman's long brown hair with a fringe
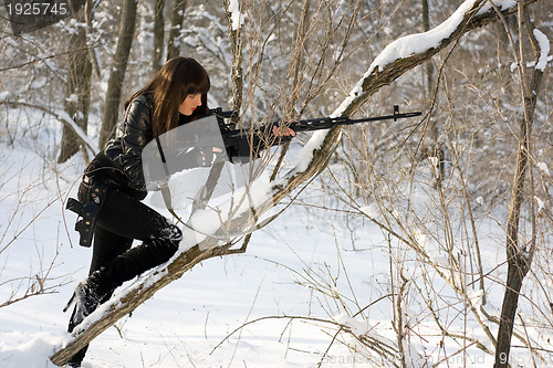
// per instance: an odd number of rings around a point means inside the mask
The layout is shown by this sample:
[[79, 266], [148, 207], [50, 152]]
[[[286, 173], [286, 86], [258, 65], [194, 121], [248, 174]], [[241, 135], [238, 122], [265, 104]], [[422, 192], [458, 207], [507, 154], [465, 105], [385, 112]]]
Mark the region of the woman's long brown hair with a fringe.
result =
[[152, 82], [136, 92], [125, 103], [125, 109], [137, 96], [150, 93], [154, 105], [152, 127], [158, 136], [178, 125], [178, 107], [188, 95], [201, 94], [201, 106], [189, 120], [208, 114], [207, 93], [211, 86], [209, 76], [195, 59], [173, 57], [157, 72]]

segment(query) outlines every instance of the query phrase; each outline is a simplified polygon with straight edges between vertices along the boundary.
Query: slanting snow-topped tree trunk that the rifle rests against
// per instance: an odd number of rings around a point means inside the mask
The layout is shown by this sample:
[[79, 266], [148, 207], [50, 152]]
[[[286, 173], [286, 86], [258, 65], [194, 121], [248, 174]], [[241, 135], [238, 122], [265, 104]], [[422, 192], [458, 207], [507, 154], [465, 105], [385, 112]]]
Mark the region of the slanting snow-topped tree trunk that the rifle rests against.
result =
[[[393, 83], [405, 72], [428, 61], [440, 50], [453, 44], [465, 33], [497, 21], [499, 15], [495, 10], [483, 7], [487, 1], [467, 0], [459, 7], [458, 11], [434, 30], [398, 39], [385, 48], [354, 86], [349, 96], [334, 112], [333, 116], [354, 114], [382, 86]], [[528, 4], [534, 1], [523, 0], [523, 3]], [[497, 6], [500, 7], [503, 17], [517, 11], [517, 2], [513, 0], [499, 1]], [[303, 147], [295, 168], [269, 183], [270, 190], [267, 199], [255, 208], [257, 215], [262, 215], [304, 182], [309, 182], [309, 180], [317, 176], [326, 167], [334, 148], [340, 141], [340, 126], [316, 132]], [[240, 221], [240, 219], [232, 221]], [[225, 223], [221, 225], [219, 232], [223, 233], [225, 225]], [[56, 365], [65, 364], [94, 337], [126, 314], [133, 312], [152, 297], [156, 291], [179, 278], [201, 261], [246, 251], [246, 245], [234, 250], [231, 249], [231, 243], [221, 246], [216, 239], [209, 236], [194, 246], [189, 245], [182, 246], [181, 244], [181, 250], [167, 264], [143, 275], [127, 290], [121, 292], [91, 314], [83, 320], [81, 326], [75, 328], [64, 346], [56, 349], [56, 353], [51, 357], [52, 362]]]

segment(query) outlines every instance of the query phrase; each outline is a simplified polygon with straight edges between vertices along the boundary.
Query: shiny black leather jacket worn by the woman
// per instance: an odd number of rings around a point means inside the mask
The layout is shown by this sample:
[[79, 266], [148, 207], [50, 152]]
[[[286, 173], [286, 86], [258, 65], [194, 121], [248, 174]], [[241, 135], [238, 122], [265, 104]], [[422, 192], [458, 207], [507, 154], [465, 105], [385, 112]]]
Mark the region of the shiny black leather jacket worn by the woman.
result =
[[152, 95], [144, 94], [136, 97], [125, 111], [117, 137], [109, 140], [95, 158], [95, 169], [102, 176], [108, 177], [116, 186], [136, 192], [139, 197], [146, 194], [142, 150], [154, 139], [152, 114]]

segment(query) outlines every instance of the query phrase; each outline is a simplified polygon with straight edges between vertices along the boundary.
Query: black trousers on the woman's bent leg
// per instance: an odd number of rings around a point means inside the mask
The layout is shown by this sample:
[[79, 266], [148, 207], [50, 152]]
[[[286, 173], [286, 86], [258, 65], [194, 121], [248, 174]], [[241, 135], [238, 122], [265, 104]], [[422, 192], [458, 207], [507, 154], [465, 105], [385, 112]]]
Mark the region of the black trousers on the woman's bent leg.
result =
[[[81, 185], [80, 201], [88, 200], [88, 189], [87, 185]], [[103, 302], [125, 281], [167, 262], [178, 250], [181, 238], [176, 225], [135, 196], [123, 189], [108, 189], [96, 217], [90, 267], [90, 274], [94, 273], [98, 286], [96, 292], [104, 295]], [[135, 239], [143, 243], [132, 248]], [[72, 317], [69, 332], [74, 327]], [[70, 364], [77, 366], [85, 353], [86, 348], [75, 355]]]

